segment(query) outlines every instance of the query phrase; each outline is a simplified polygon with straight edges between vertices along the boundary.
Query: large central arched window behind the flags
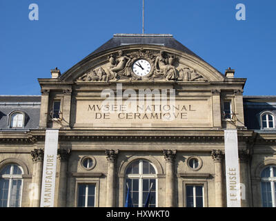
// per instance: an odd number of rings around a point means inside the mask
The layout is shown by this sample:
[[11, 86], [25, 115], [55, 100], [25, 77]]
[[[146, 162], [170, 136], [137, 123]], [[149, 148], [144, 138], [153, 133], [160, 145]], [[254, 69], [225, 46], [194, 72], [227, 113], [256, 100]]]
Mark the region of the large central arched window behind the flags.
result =
[[[137, 160], [126, 169], [126, 197], [131, 198], [133, 207], [157, 206], [157, 175], [155, 166], [147, 160]], [[151, 187], [151, 189], [150, 189]], [[148, 199], [148, 200], [147, 200]], [[128, 201], [130, 202], [130, 201]]]

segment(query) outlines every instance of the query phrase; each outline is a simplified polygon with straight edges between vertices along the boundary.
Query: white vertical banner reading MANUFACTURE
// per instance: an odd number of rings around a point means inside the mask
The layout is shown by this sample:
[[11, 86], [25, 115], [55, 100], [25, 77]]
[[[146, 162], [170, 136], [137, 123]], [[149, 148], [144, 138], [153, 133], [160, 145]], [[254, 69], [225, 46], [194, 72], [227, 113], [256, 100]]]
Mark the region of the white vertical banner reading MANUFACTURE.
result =
[[41, 207], [54, 207], [58, 142], [59, 130], [46, 130], [41, 184]]

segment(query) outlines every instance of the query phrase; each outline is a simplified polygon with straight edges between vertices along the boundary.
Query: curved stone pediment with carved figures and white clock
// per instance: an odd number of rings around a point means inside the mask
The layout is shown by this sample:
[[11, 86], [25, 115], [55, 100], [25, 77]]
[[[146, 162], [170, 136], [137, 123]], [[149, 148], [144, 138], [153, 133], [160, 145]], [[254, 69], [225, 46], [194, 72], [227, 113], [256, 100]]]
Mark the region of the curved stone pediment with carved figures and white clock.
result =
[[161, 45], [129, 44], [92, 53], [61, 75], [61, 81], [224, 81], [199, 57]]

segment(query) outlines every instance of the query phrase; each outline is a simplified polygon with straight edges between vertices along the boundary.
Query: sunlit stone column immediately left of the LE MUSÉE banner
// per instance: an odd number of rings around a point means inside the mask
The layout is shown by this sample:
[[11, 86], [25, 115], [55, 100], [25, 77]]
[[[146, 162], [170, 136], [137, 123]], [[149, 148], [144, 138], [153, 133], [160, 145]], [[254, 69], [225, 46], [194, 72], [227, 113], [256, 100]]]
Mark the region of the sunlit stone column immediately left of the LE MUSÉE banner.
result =
[[212, 151], [215, 163], [215, 206], [224, 206], [224, 181], [222, 176], [222, 160], [224, 155], [219, 150]]

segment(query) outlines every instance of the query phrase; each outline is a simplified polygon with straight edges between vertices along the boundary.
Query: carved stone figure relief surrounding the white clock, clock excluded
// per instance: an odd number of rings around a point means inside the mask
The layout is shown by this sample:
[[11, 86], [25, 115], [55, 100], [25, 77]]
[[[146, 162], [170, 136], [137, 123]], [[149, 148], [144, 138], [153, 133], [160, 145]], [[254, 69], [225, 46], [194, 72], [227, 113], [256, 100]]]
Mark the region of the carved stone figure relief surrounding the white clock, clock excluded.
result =
[[[150, 72], [146, 76], [138, 76], [132, 70], [137, 59], [145, 59], [150, 64]], [[119, 50], [117, 55], [108, 55], [106, 64], [88, 70], [77, 79], [84, 82], [118, 80], [207, 81], [197, 70], [180, 64], [175, 55], [169, 55], [163, 50], [156, 54], [144, 48], [128, 53]]]

